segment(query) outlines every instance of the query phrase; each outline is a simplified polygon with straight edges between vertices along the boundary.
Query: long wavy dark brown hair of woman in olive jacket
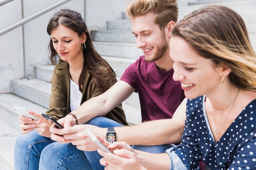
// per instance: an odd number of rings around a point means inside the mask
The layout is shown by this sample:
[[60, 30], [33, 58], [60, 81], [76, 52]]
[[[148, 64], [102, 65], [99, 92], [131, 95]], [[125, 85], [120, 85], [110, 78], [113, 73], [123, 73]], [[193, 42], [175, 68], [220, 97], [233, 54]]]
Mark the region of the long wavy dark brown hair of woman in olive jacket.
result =
[[[115, 84], [116, 75], [110, 65], [95, 50], [90, 33], [85, 21], [81, 16], [81, 13], [70, 9], [61, 9], [49, 20], [47, 33], [51, 35], [51, 31], [61, 25], [72, 29], [79, 35], [79, 37], [81, 37], [84, 33], [87, 37], [85, 42], [86, 49], [83, 50], [84, 63], [81, 75], [79, 77], [79, 91], [82, 92], [81, 85], [85, 71], [89, 71], [90, 75], [92, 75], [94, 83], [101, 91], [107, 91], [108, 88]], [[63, 62], [61, 57], [55, 51], [52, 40], [49, 42], [48, 49], [50, 53], [49, 59], [52, 64], [56, 65], [56, 62], [54, 61], [56, 56], [59, 57], [59, 62]], [[99, 68], [99, 65], [103, 65], [105, 69]], [[109, 77], [105, 77], [106, 75], [109, 75]]]

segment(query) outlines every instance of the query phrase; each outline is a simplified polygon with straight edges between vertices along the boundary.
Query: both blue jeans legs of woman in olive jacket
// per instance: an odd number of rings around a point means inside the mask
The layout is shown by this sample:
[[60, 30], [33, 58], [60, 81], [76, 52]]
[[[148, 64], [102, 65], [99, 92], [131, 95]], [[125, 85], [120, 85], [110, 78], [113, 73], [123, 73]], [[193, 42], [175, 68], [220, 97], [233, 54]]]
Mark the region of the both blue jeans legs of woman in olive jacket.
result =
[[[87, 167], [87, 168], [85, 168]], [[36, 130], [18, 135], [14, 148], [15, 170], [92, 170], [83, 151], [38, 135]]]

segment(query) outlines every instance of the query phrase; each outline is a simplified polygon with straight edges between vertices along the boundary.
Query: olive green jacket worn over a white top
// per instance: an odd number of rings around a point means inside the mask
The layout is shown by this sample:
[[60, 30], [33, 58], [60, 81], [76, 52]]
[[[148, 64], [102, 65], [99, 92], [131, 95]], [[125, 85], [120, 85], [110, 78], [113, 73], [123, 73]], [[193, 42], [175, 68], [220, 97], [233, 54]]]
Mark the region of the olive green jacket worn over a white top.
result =
[[[65, 117], [70, 110], [70, 72], [69, 72], [69, 64], [68, 62], [60, 62], [55, 66], [53, 74], [52, 74], [52, 94], [50, 96], [49, 101], [49, 110], [47, 110], [46, 114], [54, 117], [54, 119], [60, 119]], [[108, 83], [108, 82], [107, 82]], [[83, 77], [83, 92], [82, 92], [82, 100], [83, 102], [88, 99], [98, 96], [103, 91], [96, 86], [94, 83], [92, 76], [88, 71], [86, 71]], [[100, 107], [100, 106], [99, 106]], [[113, 110], [105, 115], [109, 119], [115, 120], [121, 124], [128, 125], [126, 122], [126, 117], [124, 114], [124, 110], [122, 109], [122, 105], [119, 104]]]

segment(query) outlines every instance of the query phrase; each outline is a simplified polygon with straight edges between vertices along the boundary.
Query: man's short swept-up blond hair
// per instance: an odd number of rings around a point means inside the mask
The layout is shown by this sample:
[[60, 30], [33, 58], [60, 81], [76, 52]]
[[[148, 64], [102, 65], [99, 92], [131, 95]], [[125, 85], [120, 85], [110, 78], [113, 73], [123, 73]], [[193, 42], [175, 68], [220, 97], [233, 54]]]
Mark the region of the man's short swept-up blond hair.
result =
[[176, 0], [130, 0], [126, 5], [126, 15], [133, 19], [153, 12], [154, 22], [164, 29], [168, 22], [177, 22], [178, 6]]

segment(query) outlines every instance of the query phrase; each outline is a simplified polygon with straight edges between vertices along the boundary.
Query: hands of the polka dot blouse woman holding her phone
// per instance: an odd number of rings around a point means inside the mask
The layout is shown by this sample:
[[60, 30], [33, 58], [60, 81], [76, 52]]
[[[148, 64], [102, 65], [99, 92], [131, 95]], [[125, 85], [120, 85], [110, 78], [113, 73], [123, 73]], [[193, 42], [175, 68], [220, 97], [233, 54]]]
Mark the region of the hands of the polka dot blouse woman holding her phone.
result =
[[[103, 143], [104, 140], [100, 141]], [[98, 153], [103, 156], [100, 163], [105, 166], [105, 170], [146, 170], [141, 166], [132, 147], [125, 142], [114, 142], [108, 148], [114, 154], [98, 149]]]

